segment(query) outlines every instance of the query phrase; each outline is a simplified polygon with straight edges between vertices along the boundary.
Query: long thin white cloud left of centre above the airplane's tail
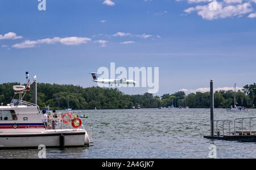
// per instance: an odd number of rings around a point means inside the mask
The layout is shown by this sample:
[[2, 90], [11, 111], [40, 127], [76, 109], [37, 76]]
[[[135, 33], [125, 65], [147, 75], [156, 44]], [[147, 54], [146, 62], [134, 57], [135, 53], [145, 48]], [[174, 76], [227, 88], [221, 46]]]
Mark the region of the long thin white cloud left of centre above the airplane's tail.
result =
[[32, 48], [35, 47], [36, 44], [55, 44], [55, 43], [61, 43], [64, 45], [79, 45], [88, 43], [91, 39], [89, 38], [82, 38], [82, 37], [66, 37], [66, 38], [46, 38], [46, 39], [39, 39], [35, 41], [26, 40], [22, 43], [14, 44], [12, 47], [14, 48]]

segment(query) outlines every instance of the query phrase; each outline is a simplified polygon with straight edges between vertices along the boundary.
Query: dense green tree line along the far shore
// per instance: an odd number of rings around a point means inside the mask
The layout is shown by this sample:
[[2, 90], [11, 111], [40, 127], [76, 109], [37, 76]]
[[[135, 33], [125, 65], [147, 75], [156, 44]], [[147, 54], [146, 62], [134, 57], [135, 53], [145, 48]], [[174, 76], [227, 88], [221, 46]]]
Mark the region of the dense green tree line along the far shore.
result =
[[[13, 85], [18, 82], [0, 84], [0, 103], [6, 105], [14, 97]], [[32, 102], [33, 90], [27, 92], [25, 101]], [[243, 86], [236, 93], [236, 105], [254, 107], [256, 105], [256, 84]], [[82, 88], [75, 85], [58, 85], [38, 83], [38, 105], [40, 108], [49, 106], [51, 109], [131, 109], [140, 105], [141, 108], [158, 108], [168, 106], [188, 106], [190, 108], [208, 108], [210, 106], [209, 92], [196, 92], [186, 95], [184, 92], [153, 96], [150, 93], [128, 95], [117, 88], [90, 87]], [[214, 107], [225, 108], [234, 106], [234, 92], [220, 90], [214, 92]]]

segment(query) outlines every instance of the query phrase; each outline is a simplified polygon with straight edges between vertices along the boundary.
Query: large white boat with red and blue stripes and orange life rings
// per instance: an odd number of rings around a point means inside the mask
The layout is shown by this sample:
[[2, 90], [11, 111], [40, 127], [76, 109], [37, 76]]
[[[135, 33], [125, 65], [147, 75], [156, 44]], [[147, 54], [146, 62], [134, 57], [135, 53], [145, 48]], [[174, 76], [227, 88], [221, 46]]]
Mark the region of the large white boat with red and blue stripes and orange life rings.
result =
[[[36, 87], [36, 80], [33, 84]], [[23, 101], [30, 90], [29, 81], [27, 88], [15, 86], [14, 90], [19, 99], [0, 106], [0, 148], [38, 147], [41, 144], [46, 147], [89, 146], [89, 136], [80, 118], [72, 117], [70, 113], [56, 113], [56, 117], [48, 118], [46, 126], [39, 106]], [[55, 129], [51, 129], [53, 121], [56, 122]]]

